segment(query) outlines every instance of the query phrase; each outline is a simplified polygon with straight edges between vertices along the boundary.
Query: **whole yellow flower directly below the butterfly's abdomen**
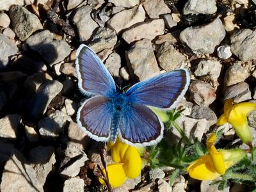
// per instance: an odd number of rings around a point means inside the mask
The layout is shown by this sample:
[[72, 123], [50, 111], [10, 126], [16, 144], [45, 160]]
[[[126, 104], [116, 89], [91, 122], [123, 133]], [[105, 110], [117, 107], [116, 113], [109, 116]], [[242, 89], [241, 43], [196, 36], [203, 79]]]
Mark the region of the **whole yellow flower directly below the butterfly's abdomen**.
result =
[[[111, 148], [111, 156], [115, 163], [108, 164], [109, 184], [113, 188], [122, 186], [124, 181], [129, 177], [135, 179], [141, 172], [141, 157], [135, 147], [131, 147], [116, 140], [114, 145], [108, 145]], [[106, 174], [106, 170], [103, 170]], [[99, 179], [101, 184], [106, 184], [104, 180]]]

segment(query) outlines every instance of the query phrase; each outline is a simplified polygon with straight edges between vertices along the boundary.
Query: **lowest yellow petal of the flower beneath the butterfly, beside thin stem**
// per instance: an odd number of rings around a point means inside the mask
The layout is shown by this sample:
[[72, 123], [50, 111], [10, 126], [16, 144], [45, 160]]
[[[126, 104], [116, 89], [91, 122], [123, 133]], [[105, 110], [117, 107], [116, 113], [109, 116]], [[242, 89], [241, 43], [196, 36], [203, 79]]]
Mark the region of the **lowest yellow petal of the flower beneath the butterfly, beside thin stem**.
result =
[[[117, 188], [119, 186], [122, 186], [124, 184], [125, 180], [127, 179], [124, 168], [122, 164], [108, 164], [108, 178], [109, 178], [109, 184], [113, 188]], [[104, 174], [106, 175], [106, 170], [103, 170]], [[104, 180], [99, 178], [99, 182], [103, 185], [106, 185]]]

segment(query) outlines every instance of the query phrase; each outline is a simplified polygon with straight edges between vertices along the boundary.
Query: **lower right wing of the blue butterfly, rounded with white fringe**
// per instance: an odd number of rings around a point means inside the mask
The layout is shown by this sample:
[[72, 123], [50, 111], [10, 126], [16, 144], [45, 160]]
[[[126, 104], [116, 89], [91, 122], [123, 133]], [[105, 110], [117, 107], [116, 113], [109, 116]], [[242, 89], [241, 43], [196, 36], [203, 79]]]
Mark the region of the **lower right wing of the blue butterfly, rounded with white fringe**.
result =
[[119, 137], [128, 145], [148, 146], [163, 138], [164, 125], [150, 108], [131, 104], [119, 116]]

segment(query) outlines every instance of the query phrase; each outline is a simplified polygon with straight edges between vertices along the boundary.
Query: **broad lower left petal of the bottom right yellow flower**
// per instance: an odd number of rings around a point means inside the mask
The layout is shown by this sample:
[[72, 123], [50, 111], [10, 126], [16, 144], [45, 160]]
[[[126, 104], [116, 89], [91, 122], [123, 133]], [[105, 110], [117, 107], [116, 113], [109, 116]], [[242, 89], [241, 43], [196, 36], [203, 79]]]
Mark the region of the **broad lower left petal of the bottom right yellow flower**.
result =
[[214, 180], [220, 177], [212, 163], [211, 156], [202, 156], [188, 166], [189, 176], [198, 180]]

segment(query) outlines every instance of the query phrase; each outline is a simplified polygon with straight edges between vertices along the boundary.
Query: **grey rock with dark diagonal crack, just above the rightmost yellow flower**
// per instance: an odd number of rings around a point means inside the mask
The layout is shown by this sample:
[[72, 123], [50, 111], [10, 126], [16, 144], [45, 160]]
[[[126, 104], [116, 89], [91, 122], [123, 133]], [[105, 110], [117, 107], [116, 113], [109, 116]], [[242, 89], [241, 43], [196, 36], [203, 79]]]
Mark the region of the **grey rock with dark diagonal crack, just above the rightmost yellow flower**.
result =
[[232, 86], [228, 86], [224, 93], [224, 100], [233, 99], [234, 102], [242, 102], [252, 99], [249, 85], [245, 82], [240, 82]]

